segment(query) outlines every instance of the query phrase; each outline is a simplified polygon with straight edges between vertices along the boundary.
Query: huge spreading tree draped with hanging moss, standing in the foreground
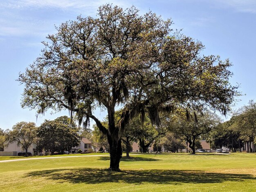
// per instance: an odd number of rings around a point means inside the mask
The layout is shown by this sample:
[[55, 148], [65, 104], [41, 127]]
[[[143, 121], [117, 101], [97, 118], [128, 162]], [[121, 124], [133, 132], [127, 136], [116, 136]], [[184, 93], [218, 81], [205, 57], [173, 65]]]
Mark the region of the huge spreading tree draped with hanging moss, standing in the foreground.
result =
[[[223, 114], [237, 87], [229, 84], [229, 60], [201, 56], [201, 42], [173, 33], [170, 20], [155, 13], [110, 4], [99, 7], [98, 17], [68, 21], [43, 42], [40, 57], [20, 74], [25, 85], [22, 107], [76, 113], [81, 123], [92, 118], [110, 145], [110, 169], [119, 170], [121, 135], [128, 122], [148, 113], [159, 126], [159, 112], [173, 105], [207, 104]], [[117, 106], [124, 106], [115, 123]], [[94, 116], [101, 106], [108, 125]], [[85, 123], [87, 125], [87, 123]]]

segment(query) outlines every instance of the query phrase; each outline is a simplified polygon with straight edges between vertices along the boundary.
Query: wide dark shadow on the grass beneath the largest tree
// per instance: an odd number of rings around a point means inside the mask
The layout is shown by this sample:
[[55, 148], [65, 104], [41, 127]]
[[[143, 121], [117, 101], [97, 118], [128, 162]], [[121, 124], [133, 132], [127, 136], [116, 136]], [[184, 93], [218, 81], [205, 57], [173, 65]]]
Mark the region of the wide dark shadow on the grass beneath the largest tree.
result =
[[225, 181], [243, 182], [245, 180], [255, 180], [251, 174], [223, 174], [215, 172], [204, 172], [198, 170], [124, 170], [121, 172], [111, 172], [106, 169], [96, 168], [73, 168], [33, 171], [25, 177], [35, 176], [45, 179], [55, 180], [59, 183], [155, 183], [155, 184], [175, 184], [182, 183], [222, 183]]

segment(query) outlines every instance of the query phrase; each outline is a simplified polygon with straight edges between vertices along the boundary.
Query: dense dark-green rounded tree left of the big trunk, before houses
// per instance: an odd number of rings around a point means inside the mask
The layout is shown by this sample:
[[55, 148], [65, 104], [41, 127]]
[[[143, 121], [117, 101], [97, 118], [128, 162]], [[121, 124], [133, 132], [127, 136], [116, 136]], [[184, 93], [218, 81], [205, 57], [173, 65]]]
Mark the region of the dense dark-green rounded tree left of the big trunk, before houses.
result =
[[53, 121], [45, 120], [37, 130], [37, 150], [54, 152], [70, 151], [80, 144], [78, 129], [71, 119], [61, 116]]

